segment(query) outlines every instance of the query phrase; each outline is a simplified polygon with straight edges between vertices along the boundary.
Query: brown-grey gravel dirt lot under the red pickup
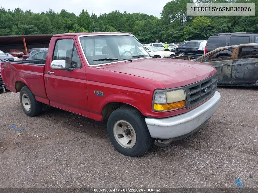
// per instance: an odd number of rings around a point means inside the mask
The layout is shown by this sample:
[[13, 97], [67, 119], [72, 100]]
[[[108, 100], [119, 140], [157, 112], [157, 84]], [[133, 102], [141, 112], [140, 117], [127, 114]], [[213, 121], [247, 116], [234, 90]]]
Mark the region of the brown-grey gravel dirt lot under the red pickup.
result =
[[217, 90], [203, 129], [139, 158], [114, 149], [106, 123], [51, 107], [29, 117], [19, 93], [2, 93], [0, 187], [258, 188], [258, 90]]

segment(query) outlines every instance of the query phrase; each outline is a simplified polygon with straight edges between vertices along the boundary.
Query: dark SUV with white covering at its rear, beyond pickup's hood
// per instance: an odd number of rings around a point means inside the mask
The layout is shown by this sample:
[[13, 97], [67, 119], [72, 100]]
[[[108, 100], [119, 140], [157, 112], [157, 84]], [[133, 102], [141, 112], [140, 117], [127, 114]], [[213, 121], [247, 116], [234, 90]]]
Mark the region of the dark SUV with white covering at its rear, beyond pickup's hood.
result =
[[183, 41], [179, 45], [176, 46], [176, 55], [183, 56], [187, 55], [193, 58], [198, 58], [199, 56], [204, 54], [203, 50], [198, 50], [200, 47], [200, 43], [205, 40], [191, 40], [191, 41]]

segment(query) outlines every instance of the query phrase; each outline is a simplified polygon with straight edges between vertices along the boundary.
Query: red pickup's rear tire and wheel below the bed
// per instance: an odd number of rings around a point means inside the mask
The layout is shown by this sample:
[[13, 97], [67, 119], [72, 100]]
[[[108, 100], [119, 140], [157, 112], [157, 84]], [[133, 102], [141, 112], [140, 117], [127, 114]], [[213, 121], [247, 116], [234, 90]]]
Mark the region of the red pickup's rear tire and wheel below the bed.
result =
[[27, 116], [37, 116], [42, 113], [42, 103], [36, 101], [35, 95], [27, 86], [20, 90], [20, 104]]

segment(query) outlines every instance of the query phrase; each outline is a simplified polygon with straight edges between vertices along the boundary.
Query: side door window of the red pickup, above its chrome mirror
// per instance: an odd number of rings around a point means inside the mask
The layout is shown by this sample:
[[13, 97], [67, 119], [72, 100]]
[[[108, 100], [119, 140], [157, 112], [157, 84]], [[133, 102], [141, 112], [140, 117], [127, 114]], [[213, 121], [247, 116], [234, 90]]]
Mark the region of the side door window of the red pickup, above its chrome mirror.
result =
[[57, 40], [53, 60], [61, 59], [67, 63], [67, 68], [81, 68], [81, 60], [74, 45], [73, 39]]

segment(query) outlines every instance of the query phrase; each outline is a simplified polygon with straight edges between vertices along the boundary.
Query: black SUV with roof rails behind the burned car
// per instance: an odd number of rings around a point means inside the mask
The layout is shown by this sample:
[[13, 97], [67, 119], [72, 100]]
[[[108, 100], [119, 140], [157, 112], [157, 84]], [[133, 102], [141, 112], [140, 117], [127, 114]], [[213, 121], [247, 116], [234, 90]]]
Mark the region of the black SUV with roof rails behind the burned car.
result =
[[258, 43], [258, 34], [254, 34], [253, 32], [214, 34], [209, 37], [204, 53], [206, 54], [223, 46], [249, 43]]

